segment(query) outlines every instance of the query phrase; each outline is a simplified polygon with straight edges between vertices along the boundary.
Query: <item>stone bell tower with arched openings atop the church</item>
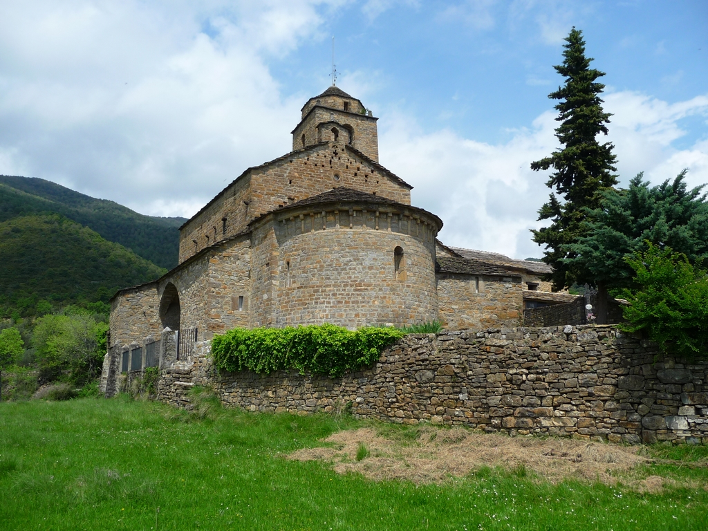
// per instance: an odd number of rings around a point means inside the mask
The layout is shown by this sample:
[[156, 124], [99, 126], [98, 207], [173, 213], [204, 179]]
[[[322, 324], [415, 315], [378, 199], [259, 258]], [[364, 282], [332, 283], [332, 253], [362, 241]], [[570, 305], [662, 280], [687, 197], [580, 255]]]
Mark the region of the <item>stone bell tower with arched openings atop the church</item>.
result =
[[378, 162], [377, 120], [361, 101], [332, 85], [302, 107], [302, 120], [292, 130], [292, 151], [338, 142]]

